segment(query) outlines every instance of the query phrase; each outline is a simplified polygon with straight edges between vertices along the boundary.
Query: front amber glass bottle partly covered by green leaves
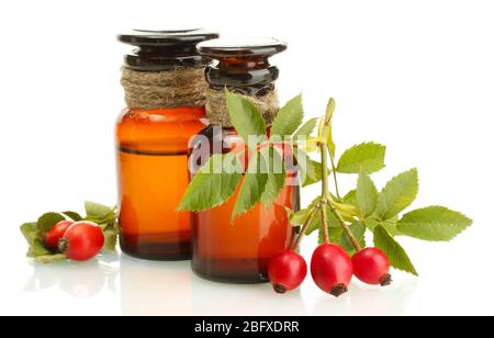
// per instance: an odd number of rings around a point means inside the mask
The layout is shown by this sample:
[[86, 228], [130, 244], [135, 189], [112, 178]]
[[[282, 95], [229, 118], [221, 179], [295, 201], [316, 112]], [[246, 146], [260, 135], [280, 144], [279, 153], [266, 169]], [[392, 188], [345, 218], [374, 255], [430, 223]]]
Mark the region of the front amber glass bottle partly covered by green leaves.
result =
[[[274, 94], [274, 81], [279, 70], [271, 66], [268, 58], [287, 48], [274, 40], [254, 40], [229, 43], [214, 40], [199, 45], [201, 55], [216, 60], [206, 68], [206, 80], [211, 91], [224, 91], [227, 87], [235, 92], [262, 100]], [[212, 109], [211, 95], [206, 103]], [[215, 112], [209, 111], [211, 125], [201, 132], [191, 150], [190, 168], [205, 162], [203, 155], [195, 156], [207, 143], [220, 144], [212, 147], [214, 153], [226, 154], [245, 145], [235, 129], [211, 119]], [[269, 124], [270, 121], [268, 121]], [[222, 128], [218, 128], [221, 124]], [[199, 165], [201, 165], [199, 164]], [[194, 170], [192, 170], [192, 174]], [[296, 177], [295, 172], [289, 173]], [[288, 248], [294, 232], [290, 226], [285, 207], [299, 207], [299, 188], [289, 185], [283, 189], [274, 205], [269, 209], [257, 205], [247, 214], [239, 216], [232, 225], [232, 213], [236, 194], [216, 209], [193, 214], [192, 269], [209, 280], [228, 283], [260, 283], [267, 281], [269, 259], [278, 251]]]

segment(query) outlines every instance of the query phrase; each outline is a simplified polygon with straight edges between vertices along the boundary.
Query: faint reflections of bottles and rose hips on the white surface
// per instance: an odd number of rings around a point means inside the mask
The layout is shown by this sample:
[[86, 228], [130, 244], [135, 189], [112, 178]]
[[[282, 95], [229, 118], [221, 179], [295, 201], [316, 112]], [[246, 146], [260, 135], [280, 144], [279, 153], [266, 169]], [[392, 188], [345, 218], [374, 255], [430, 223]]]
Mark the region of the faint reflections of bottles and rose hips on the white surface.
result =
[[[334, 298], [321, 292], [307, 277], [301, 290], [278, 295], [269, 284], [205, 281], [192, 273], [188, 261], [154, 262], [124, 255], [86, 263], [32, 263], [32, 269], [33, 274], [24, 285], [25, 294], [35, 293], [36, 297], [68, 294], [96, 303], [105, 300], [104, 306], [111, 314], [123, 315], [401, 315], [408, 312], [417, 286], [415, 279], [406, 277], [400, 277], [385, 289], [353, 281], [348, 294]], [[114, 297], [108, 298], [109, 294]]]

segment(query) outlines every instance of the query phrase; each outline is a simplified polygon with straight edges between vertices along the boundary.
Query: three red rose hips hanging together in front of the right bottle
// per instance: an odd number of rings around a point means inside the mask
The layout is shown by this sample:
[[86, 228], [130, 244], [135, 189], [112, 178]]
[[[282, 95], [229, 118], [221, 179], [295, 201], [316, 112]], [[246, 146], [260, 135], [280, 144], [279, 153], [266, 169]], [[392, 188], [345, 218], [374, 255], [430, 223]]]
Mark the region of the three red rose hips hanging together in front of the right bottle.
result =
[[[390, 285], [390, 261], [377, 248], [367, 248], [352, 258], [335, 244], [321, 245], [312, 256], [311, 273], [324, 292], [336, 297], [348, 292], [352, 277], [371, 285]], [[294, 250], [284, 250], [269, 262], [269, 280], [274, 291], [285, 293], [299, 288], [307, 275], [307, 263]]]

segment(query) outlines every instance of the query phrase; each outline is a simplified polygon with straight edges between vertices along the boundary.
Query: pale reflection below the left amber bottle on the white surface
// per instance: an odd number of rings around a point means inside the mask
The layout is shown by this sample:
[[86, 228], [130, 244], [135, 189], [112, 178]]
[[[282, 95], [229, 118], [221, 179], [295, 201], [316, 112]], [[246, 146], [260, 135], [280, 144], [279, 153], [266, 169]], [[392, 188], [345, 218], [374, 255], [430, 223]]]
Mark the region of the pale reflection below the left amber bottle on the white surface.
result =
[[190, 261], [145, 261], [122, 255], [120, 279], [122, 314], [191, 315], [191, 279]]

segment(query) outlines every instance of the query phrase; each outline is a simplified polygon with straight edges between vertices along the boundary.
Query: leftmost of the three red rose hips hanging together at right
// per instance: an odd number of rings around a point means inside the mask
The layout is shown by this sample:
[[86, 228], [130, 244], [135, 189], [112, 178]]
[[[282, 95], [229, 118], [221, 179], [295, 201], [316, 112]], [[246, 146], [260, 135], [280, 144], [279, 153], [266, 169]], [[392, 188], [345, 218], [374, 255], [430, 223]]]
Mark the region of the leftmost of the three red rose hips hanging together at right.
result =
[[293, 250], [284, 250], [271, 258], [268, 274], [274, 291], [285, 293], [303, 283], [307, 275], [307, 263]]

